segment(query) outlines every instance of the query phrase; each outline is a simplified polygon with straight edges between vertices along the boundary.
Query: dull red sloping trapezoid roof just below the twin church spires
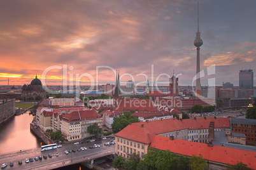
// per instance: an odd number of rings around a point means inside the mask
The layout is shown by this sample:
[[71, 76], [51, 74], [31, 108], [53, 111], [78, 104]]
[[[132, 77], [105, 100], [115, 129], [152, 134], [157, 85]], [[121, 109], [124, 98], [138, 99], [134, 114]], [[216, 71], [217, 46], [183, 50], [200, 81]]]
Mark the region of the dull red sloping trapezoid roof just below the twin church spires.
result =
[[153, 105], [152, 100], [138, 98], [122, 98], [120, 105], [118, 105], [115, 110], [119, 112], [130, 110], [138, 112], [157, 112], [157, 108]]

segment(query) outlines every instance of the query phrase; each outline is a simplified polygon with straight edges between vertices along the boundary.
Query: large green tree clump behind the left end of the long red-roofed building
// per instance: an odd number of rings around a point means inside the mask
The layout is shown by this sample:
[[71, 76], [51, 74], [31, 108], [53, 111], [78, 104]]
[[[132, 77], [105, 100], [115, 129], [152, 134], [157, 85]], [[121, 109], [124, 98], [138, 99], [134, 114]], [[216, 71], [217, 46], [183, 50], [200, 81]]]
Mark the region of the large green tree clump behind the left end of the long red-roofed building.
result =
[[120, 114], [119, 117], [113, 118], [113, 124], [111, 124], [112, 129], [115, 133], [121, 131], [126, 126], [129, 125], [129, 122], [139, 122], [139, 119], [131, 115], [131, 112], [124, 112], [124, 114]]

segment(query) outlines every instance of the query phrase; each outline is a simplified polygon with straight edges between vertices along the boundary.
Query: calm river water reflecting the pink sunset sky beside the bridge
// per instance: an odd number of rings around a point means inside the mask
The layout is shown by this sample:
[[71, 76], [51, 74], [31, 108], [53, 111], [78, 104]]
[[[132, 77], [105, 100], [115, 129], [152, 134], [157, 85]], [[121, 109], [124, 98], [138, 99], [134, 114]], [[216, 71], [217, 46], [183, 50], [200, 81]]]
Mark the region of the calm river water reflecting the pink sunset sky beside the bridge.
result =
[[0, 125], [0, 154], [40, 147], [41, 140], [30, 131], [33, 116], [16, 115]]

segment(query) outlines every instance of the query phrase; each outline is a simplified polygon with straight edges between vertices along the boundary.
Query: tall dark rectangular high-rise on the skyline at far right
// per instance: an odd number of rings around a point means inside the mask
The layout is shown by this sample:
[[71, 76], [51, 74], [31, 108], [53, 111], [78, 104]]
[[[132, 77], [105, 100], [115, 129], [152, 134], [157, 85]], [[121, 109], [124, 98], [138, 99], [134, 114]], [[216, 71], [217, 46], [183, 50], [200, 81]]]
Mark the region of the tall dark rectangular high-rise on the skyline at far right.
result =
[[240, 70], [239, 89], [253, 89], [253, 70]]

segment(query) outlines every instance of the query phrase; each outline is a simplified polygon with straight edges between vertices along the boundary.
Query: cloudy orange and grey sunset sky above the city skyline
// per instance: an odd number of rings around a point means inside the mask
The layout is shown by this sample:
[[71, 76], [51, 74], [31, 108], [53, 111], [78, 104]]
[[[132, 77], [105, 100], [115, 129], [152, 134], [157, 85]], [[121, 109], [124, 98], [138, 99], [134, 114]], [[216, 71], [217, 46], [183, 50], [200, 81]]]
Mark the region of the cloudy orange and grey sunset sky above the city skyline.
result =
[[[199, 1], [201, 70], [215, 65], [217, 85], [238, 85], [242, 68], [256, 71], [255, 6]], [[123, 82], [146, 75], [157, 84], [167, 84], [174, 70], [180, 85], [192, 85], [196, 74], [197, 1], [0, 1], [0, 23], [0, 85], [8, 77], [11, 85], [29, 84], [36, 74], [46, 85], [65, 77], [114, 83], [113, 70]]]

